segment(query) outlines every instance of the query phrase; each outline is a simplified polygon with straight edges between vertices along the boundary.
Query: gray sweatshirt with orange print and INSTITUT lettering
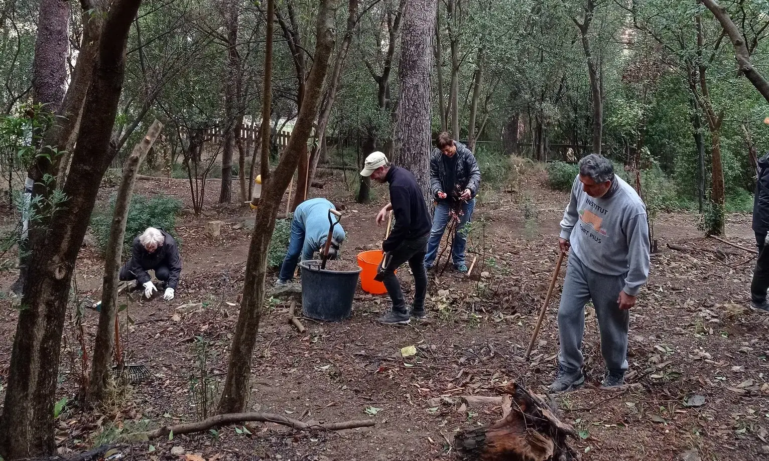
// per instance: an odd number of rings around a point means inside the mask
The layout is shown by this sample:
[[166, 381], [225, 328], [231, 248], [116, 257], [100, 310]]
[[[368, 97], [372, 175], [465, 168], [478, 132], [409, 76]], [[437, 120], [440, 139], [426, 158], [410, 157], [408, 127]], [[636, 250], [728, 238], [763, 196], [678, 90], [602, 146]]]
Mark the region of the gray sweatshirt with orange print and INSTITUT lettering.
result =
[[601, 198], [589, 196], [579, 176], [561, 221], [561, 238], [591, 270], [624, 277], [624, 292], [635, 296], [649, 277], [646, 207], [630, 184], [616, 174]]

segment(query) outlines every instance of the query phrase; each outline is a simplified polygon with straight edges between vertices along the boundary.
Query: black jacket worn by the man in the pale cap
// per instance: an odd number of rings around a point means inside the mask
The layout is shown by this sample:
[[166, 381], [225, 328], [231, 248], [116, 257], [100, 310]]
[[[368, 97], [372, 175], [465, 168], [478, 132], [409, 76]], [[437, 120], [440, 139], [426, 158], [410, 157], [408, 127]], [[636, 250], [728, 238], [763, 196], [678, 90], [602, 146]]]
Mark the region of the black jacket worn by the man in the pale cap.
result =
[[404, 240], [429, 234], [432, 220], [428, 206], [424, 203], [424, 195], [411, 171], [390, 167], [384, 179], [390, 183], [390, 203], [395, 224], [390, 237], [382, 242], [382, 250], [392, 251]]

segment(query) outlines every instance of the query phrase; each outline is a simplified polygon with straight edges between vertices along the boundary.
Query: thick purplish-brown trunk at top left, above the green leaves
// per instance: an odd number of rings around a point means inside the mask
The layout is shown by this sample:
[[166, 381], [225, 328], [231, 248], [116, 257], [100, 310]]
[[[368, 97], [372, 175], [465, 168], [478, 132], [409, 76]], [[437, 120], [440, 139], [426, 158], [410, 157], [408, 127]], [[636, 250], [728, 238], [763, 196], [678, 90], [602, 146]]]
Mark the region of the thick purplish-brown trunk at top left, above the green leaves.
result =
[[32, 63], [32, 102], [56, 112], [64, 100], [69, 55], [67, 0], [42, 0]]

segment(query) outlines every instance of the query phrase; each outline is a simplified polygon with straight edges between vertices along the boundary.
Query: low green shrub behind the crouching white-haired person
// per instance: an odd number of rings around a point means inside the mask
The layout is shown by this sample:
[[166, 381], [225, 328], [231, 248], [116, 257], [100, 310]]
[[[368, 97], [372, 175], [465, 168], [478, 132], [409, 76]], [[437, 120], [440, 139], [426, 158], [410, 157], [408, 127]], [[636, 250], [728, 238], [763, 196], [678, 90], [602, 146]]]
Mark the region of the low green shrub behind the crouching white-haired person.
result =
[[[116, 197], [117, 194], [112, 195], [108, 209], [95, 214], [91, 219], [96, 244], [102, 252], [107, 249], [109, 243], [109, 227], [112, 224], [112, 215], [115, 213]], [[124, 250], [130, 251], [134, 238], [144, 232], [147, 227], [162, 227], [177, 240], [178, 244], [181, 244], [175, 231], [176, 214], [181, 211], [181, 207], [181, 201], [163, 194], [152, 197], [135, 194], [131, 197], [123, 238]]]

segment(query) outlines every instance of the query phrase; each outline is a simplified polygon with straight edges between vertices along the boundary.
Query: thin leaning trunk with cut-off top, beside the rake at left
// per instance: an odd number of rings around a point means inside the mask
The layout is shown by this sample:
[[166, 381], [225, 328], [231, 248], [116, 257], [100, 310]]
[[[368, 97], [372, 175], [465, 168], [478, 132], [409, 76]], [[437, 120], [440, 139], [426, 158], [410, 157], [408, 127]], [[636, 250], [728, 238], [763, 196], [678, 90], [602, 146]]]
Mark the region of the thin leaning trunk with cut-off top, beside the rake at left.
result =
[[109, 230], [109, 242], [105, 254], [104, 282], [102, 284], [102, 310], [99, 313], [98, 330], [94, 346], [93, 365], [91, 367], [91, 383], [88, 388], [89, 400], [102, 402], [107, 396], [106, 391], [112, 380], [112, 344], [115, 340], [115, 315], [118, 306], [118, 272], [123, 255], [123, 240], [125, 239], [125, 224], [128, 220], [128, 206], [136, 184], [141, 162], [155, 144], [163, 124], [155, 120], [151, 124], [144, 139], [136, 144], [134, 151], [125, 161], [123, 178], [115, 199], [115, 214], [112, 215], [112, 226]]

